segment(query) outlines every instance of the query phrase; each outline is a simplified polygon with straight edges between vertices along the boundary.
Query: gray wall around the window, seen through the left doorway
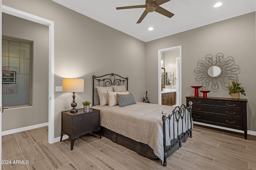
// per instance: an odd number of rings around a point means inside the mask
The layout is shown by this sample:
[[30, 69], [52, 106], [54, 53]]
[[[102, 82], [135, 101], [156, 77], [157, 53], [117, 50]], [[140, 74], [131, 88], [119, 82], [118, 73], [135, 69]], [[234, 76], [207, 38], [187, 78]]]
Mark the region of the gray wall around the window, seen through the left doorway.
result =
[[[48, 27], [2, 14], [2, 35], [30, 40], [34, 44], [32, 106], [4, 110], [2, 131], [48, 122]], [[16, 84], [22, 86], [22, 81]]]

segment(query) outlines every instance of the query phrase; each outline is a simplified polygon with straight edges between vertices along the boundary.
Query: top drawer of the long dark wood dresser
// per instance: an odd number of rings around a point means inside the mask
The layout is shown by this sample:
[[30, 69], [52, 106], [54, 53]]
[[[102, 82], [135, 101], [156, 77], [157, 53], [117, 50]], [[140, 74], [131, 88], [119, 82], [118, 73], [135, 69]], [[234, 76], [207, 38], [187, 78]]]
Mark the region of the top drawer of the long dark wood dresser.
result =
[[225, 106], [225, 107], [237, 107], [242, 108], [242, 103], [237, 102], [236, 100], [202, 100], [201, 98], [190, 98], [193, 104], [204, 104], [204, 105], [214, 105], [214, 106]]

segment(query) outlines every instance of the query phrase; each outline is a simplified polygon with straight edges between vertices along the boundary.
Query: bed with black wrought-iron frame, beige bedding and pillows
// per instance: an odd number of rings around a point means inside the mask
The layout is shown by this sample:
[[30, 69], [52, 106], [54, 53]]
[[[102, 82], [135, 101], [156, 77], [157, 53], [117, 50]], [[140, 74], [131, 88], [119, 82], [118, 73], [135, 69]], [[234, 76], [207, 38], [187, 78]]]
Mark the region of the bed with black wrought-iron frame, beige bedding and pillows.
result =
[[128, 78], [112, 73], [92, 79], [92, 108], [100, 110], [101, 135], [114, 143], [166, 166], [166, 158], [192, 137], [192, 102], [188, 107], [135, 102]]

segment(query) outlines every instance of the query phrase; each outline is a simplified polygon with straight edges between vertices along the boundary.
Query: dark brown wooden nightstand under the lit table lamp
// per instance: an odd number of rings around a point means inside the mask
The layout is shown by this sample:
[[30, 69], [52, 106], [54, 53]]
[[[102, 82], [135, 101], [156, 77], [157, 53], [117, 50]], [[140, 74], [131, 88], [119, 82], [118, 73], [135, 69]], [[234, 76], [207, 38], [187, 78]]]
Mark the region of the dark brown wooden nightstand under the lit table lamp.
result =
[[100, 138], [100, 110], [91, 109], [84, 112], [84, 109], [77, 109], [77, 113], [70, 113], [70, 111], [61, 112], [61, 133], [60, 141], [64, 134], [68, 135], [70, 139], [71, 150], [73, 150], [76, 138], [98, 131]]

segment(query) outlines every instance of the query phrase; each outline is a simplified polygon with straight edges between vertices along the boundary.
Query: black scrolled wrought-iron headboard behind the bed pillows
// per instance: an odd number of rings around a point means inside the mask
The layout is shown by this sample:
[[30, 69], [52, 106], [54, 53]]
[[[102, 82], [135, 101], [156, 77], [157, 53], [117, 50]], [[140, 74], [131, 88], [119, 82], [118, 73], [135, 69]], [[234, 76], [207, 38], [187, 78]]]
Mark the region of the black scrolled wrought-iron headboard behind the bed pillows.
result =
[[104, 76], [92, 75], [92, 106], [95, 106], [95, 93], [97, 93], [95, 86], [120, 86], [125, 85], [128, 90], [128, 77], [124, 78], [117, 74], [105, 74]]

